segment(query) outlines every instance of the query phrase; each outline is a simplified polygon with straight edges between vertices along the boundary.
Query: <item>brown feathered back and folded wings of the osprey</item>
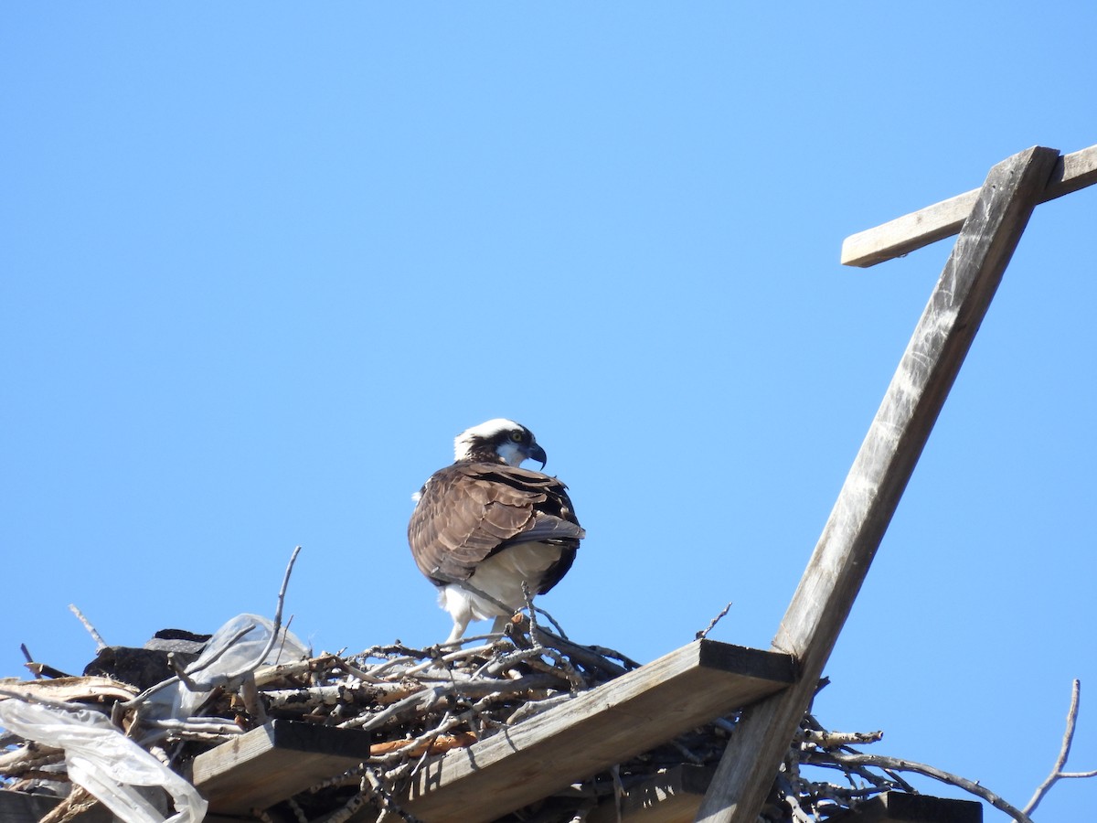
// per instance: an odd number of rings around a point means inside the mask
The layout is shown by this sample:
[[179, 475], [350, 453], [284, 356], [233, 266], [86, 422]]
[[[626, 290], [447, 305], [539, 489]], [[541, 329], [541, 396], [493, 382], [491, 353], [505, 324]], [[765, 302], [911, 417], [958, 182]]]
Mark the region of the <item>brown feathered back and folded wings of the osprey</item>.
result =
[[496, 463], [454, 463], [436, 472], [408, 523], [416, 564], [439, 585], [468, 579], [480, 561], [507, 545], [553, 540], [574, 552], [583, 537], [563, 483]]

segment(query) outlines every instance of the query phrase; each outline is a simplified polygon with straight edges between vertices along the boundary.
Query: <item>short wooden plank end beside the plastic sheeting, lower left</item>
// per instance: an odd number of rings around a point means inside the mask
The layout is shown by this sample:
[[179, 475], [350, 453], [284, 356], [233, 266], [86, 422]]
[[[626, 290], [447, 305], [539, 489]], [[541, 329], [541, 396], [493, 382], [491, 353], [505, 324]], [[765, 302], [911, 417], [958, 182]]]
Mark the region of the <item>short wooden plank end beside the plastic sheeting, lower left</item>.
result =
[[265, 809], [370, 756], [370, 734], [274, 720], [194, 758], [192, 782], [211, 814]]

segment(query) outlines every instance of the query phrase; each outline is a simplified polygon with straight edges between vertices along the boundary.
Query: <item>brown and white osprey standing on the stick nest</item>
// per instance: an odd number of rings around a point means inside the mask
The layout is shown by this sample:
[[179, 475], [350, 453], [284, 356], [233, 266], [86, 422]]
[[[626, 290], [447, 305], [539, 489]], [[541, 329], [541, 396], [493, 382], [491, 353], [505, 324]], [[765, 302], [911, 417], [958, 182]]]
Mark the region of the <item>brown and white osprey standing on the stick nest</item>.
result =
[[525, 596], [543, 595], [572, 567], [586, 535], [567, 486], [519, 467], [547, 456], [533, 432], [497, 418], [454, 440], [454, 462], [430, 476], [415, 495], [408, 544], [416, 565], [439, 588], [453, 618], [446, 642], [471, 620], [494, 617], [502, 631]]

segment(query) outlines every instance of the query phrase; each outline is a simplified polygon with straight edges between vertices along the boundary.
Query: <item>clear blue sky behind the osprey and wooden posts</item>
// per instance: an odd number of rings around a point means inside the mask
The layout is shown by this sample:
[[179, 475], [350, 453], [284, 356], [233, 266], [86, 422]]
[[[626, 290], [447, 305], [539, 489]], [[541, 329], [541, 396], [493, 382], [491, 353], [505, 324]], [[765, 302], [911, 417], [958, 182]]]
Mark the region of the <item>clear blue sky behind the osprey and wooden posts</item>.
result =
[[[286, 609], [441, 640], [410, 494], [490, 417], [588, 531], [541, 604], [766, 647], [951, 248], [841, 240], [1097, 144], [1097, 5], [9, 3], [3, 631]], [[1097, 768], [1097, 190], [1040, 206], [853, 608], [824, 724], [1024, 804]], [[923, 790], [953, 794], [916, 781]], [[1038, 819], [1076, 820], [1097, 780]], [[987, 820], [1004, 820], [988, 811]]]

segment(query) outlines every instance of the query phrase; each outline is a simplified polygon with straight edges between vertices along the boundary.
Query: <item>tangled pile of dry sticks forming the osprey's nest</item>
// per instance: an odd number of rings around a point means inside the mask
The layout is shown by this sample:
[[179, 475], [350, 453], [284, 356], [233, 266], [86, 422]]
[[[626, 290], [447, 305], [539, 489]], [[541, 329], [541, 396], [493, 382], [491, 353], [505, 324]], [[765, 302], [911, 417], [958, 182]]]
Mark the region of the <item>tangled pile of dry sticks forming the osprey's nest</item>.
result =
[[[133, 655], [113, 657], [129, 661]], [[320, 654], [261, 667], [231, 688], [214, 689], [197, 710], [200, 717], [148, 719], [136, 688], [145, 686], [144, 681], [123, 687], [102, 676], [37, 680], [34, 689], [24, 684], [22, 699], [43, 699], [42, 685], [53, 684], [56, 688], [45, 699], [101, 708], [121, 731], [181, 774], [186, 774], [195, 755], [271, 719], [366, 731], [375, 743], [361, 765], [289, 801], [256, 810], [256, 816], [292, 823], [340, 823], [352, 814], [361, 819], [372, 807], [378, 820], [392, 815], [415, 820], [400, 809], [398, 798], [428, 757], [529, 721], [637, 666], [612, 650], [578, 645], [562, 631], [553, 633], [525, 618], [516, 618], [502, 635], [468, 638], [429, 649], [397, 642], [359, 654]], [[95, 670], [132, 679], [131, 669], [112, 672], [102, 655]], [[21, 697], [18, 685], [5, 686], [0, 689], [7, 691], [5, 697]], [[682, 764], [715, 765], [735, 721], [735, 715], [716, 719], [500, 820], [581, 820], [598, 802], [621, 797], [631, 786], [666, 769]], [[800, 765], [808, 756], [818, 762], [828, 748], [879, 736], [855, 735], [851, 741], [828, 734], [813, 719], [805, 719], [804, 734], [777, 776], [766, 820], [808, 819], [801, 818], [806, 814], [825, 819], [887, 789], [909, 789], [893, 775], [880, 776], [864, 768], [844, 769], [842, 785], [804, 778]], [[3, 788], [33, 790], [57, 787], [66, 780], [61, 752], [29, 741], [4, 743], [19, 747], [0, 755]]]

